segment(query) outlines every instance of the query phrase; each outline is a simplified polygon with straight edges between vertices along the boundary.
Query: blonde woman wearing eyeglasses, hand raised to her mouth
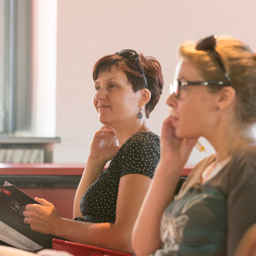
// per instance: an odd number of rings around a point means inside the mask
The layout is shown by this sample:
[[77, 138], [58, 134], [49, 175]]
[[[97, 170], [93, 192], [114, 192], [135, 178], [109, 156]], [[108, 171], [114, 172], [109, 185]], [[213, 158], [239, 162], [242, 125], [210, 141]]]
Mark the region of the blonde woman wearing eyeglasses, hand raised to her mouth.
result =
[[[161, 160], [135, 223], [142, 255], [232, 256], [256, 223], [256, 55], [234, 38], [211, 36], [179, 48]], [[216, 154], [174, 188], [199, 137]]]

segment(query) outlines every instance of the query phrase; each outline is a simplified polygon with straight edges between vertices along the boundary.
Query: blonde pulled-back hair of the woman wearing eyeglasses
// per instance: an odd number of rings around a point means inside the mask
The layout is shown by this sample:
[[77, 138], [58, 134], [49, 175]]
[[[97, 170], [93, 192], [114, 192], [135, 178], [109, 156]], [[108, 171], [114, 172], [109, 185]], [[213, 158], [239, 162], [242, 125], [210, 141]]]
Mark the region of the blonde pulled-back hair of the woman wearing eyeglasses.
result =
[[[235, 38], [221, 36], [217, 39], [218, 52], [236, 90], [236, 119], [241, 124], [256, 121], [256, 55], [249, 46]], [[179, 55], [188, 59], [205, 80], [226, 82], [223, 70], [208, 51], [196, 51], [196, 42], [184, 42]], [[219, 86], [209, 86], [210, 90], [220, 90]]]

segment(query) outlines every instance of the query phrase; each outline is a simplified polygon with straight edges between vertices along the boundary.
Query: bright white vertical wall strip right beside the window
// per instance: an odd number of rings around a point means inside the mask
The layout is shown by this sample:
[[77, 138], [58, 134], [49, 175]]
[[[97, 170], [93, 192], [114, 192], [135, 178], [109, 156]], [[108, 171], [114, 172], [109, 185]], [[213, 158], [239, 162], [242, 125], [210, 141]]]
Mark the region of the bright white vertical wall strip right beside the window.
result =
[[[57, 0], [33, 1], [34, 136], [55, 136]], [[60, 74], [60, 76], [62, 76]]]

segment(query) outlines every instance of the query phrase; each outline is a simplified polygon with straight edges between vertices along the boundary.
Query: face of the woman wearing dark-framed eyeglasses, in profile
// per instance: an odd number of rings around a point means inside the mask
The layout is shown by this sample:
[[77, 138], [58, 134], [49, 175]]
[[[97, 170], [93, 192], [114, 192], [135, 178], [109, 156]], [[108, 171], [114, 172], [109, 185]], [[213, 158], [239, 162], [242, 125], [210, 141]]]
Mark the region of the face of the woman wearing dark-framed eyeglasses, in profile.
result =
[[[205, 81], [188, 60], [182, 59], [177, 65], [174, 79], [179, 81]], [[186, 86], [180, 91], [179, 99], [170, 95], [166, 100], [172, 111], [170, 118], [179, 138], [205, 136], [217, 121], [216, 94], [210, 93], [207, 86]]]

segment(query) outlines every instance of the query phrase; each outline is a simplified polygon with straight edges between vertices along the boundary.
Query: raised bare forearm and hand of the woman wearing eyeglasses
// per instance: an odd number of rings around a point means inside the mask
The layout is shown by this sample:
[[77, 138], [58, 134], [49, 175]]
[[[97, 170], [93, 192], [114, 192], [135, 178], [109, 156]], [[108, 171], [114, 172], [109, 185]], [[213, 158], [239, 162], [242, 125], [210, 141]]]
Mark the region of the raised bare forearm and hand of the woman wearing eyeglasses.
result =
[[139, 211], [132, 235], [136, 255], [149, 255], [161, 247], [161, 216], [170, 204], [179, 175], [194, 143], [196, 139], [175, 137], [171, 121], [168, 118], [164, 121], [161, 131], [161, 160]]

